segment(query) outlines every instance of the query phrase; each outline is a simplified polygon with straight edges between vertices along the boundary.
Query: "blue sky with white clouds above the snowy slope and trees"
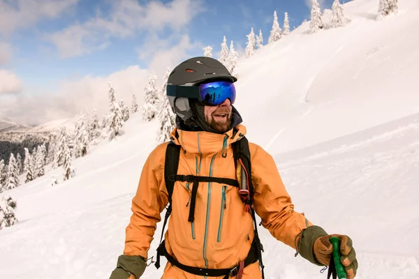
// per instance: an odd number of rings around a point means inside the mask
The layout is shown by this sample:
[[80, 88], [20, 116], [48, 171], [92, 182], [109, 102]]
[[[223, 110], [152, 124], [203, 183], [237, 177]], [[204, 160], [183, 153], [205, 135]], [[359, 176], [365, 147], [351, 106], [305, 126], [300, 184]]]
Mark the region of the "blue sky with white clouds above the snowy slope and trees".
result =
[[[22, 100], [65, 97], [62, 84], [86, 77], [129, 66], [163, 75], [207, 45], [218, 58], [223, 36], [242, 52], [251, 27], [267, 43], [274, 10], [280, 27], [288, 12], [292, 30], [309, 20], [307, 1], [0, 0], [0, 119], [12, 119], [10, 106]], [[330, 8], [332, 1], [319, 3]]]

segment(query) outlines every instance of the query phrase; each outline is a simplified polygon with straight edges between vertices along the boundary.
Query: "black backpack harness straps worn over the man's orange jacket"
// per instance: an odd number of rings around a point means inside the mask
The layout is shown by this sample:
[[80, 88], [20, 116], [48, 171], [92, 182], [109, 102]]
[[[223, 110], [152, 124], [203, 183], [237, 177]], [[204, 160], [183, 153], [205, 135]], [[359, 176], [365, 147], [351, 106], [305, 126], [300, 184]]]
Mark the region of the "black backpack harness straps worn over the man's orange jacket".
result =
[[[242, 135], [240, 135], [242, 136]], [[164, 178], [166, 181], [166, 189], [168, 190], [168, 206], [166, 208], [166, 216], [163, 222], [163, 229], [161, 232], [161, 239], [159, 248], [157, 248], [157, 257], [155, 266], [157, 269], [160, 267], [160, 257], [163, 255], [168, 259], [170, 264], [177, 266], [179, 269], [182, 269], [188, 273], [193, 273], [198, 276], [209, 276], [209, 277], [217, 277], [217, 276], [225, 276], [224, 279], [228, 279], [229, 277], [237, 276], [237, 279], [242, 278], [242, 272], [244, 267], [248, 266], [249, 264], [253, 264], [256, 261], [259, 261], [260, 269], [262, 272], [262, 278], [265, 278], [264, 275], [264, 266], [262, 262], [262, 252], [263, 246], [260, 243], [258, 229], [256, 225], [256, 216], [255, 210], [253, 209], [252, 205], [252, 197], [253, 197], [253, 184], [251, 181], [251, 160], [250, 160], [250, 151], [249, 151], [249, 142], [246, 137], [242, 136], [240, 140], [237, 140], [232, 144], [233, 147], [233, 155], [235, 161], [235, 167], [237, 169], [237, 164], [242, 165], [242, 185], [247, 186], [247, 189], [239, 189], [240, 197], [242, 198], [245, 204], [245, 211], [249, 212], [253, 219], [253, 229], [254, 229], [254, 239], [253, 243], [251, 243], [251, 249], [249, 250], [249, 255], [247, 258], [237, 264], [237, 266], [233, 266], [232, 269], [203, 269], [194, 266], [185, 266], [181, 264], [172, 257], [167, 251], [165, 247], [165, 241], [163, 240], [164, 229], [166, 227], [166, 223], [172, 212], [172, 194], [173, 188], [175, 187], [175, 181], [187, 181], [193, 183], [192, 193], [191, 193], [191, 204], [189, 208], [189, 222], [193, 222], [194, 220], [194, 211], [195, 211], [195, 202], [196, 202], [196, 193], [198, 191], [198, 183], [199, 182], [217, 182], [217, 183], [225, 183], [230, 186], [235, 186], [239, 188], [239, 183], [235, 179], [226, 179], [226, 178], [219, 178], [219, 177], [210, 177], [210, 176], [194, 176], [190, 175], [179, 175], [177, 174], [177, 167], [179, 163], [179, 153], [180, 153], [180, 145], [175, 144], [174, 142], [169, 142], [167, 149], [166, 149], [166, 160], [165, 160], [165, 168], [164, 168]], [[163, 240], [163, 241], [162, 241]]]

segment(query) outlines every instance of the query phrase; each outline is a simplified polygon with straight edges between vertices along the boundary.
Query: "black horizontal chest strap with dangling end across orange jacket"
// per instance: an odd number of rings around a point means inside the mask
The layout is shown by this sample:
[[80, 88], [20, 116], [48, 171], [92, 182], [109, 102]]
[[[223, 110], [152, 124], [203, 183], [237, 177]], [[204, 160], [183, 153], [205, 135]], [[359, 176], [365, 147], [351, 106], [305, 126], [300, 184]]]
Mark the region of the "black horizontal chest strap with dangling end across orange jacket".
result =
[[219, 177], [210, 177], [210, 176], [195, 176], [192, 174], [182, 175], [182, 174], [172, 174], [168, 177], [170, 181], [182, 181], [182, 182], [193, 182], [192, 185], [192, 194], [191, 194], [191, 207], [189, 208], [189, 218], [188, 222], [193, 223], [195, 220], [195, 204], [196, 204], [196, 194], [198, 193], [198, 185], [200, 182], [216, 182], [223, 183], [234, 187], [239, 187], [239, 183], [235, 179], [225, 179]]

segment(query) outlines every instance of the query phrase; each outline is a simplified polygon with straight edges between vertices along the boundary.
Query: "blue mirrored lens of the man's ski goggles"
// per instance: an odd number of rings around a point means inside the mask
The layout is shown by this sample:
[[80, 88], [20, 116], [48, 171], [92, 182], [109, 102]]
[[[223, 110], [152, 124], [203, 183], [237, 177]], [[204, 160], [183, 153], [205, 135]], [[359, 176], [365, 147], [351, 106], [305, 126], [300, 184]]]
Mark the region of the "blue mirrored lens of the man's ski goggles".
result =
[[220, 105], [230, 99], [233, 104], [235, 101], [235, 86], [232, 82], [210, 82], [200, 84], [200, 100], [208, 105]]

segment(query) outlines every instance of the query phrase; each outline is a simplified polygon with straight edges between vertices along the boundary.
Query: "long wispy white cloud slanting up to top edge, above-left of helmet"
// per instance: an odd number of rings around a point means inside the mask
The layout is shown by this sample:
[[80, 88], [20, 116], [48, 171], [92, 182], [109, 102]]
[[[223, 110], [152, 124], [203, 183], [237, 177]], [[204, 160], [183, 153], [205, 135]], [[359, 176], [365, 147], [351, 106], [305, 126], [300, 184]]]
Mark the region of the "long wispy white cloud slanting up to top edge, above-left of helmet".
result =
[[141, 6], [138, 1], [112, 1], [109, 15], [91, 18], [45, 38], [57, 46], [61, 58], [78, 56], [106, 47], [112, 38], [126, 38], [142, 31], [150, 34], [166, 27], [178, 32], [201, 13], [202, 0], [152, 1]]

